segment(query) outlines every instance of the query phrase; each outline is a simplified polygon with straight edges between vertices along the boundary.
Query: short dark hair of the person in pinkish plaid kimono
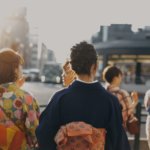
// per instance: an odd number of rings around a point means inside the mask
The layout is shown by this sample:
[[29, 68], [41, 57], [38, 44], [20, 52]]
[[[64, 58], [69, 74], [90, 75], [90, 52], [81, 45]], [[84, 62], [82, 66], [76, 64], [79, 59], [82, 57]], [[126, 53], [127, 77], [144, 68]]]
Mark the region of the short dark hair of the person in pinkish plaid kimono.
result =
[[102, 75], [104, 81], [111, 83], [114, 77], [118, 77], [119, 75], [122, 75], [122, 72], [116, 66], [107, 66], [106, 68], [104, 68]]

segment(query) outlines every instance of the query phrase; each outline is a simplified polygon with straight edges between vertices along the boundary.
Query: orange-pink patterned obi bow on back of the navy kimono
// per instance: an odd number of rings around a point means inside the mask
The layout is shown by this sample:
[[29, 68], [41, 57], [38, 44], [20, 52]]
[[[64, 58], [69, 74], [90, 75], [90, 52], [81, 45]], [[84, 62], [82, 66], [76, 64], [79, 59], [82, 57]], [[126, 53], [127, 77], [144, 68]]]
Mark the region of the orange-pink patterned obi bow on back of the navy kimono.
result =
[[57, 150], [104, 150], [105, 129], [96, 129], [84, 122], [62, 126], [55, 136]]

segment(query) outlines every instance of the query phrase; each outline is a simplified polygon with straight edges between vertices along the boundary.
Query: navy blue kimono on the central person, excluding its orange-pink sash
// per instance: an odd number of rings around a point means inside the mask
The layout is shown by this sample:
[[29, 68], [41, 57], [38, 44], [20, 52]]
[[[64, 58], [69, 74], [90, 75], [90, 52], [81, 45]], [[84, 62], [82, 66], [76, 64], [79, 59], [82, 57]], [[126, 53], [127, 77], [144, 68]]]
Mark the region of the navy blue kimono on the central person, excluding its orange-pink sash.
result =
[[120, 104], [99, 82], [74, 81], [55, 93], [40, 116], [36, 136], [40, 150], [56, 150], [54, 137], [61, 125], [84, 121], [96, 128], [105, 128], [105, 150], [130, 150], [122, 127]]

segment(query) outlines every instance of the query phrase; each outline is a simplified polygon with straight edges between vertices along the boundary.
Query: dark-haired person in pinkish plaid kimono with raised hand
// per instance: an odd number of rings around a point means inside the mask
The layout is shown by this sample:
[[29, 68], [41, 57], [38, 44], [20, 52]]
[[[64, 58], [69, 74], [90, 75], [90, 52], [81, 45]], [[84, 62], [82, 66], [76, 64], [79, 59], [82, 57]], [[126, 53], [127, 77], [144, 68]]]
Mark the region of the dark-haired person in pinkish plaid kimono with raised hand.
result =
[[103, 80], [107, 83], [106, 89], [112, 94], [116, 95], [122, 108], [123, 126], [126, 129], [127, 121], [133, 121], [134, 109], [138, 103], [138, 96], [136, 92], [129, 93], [120, 88], [122, 82], [122, 72], [116, 66], [107, 66], [104, 68]]

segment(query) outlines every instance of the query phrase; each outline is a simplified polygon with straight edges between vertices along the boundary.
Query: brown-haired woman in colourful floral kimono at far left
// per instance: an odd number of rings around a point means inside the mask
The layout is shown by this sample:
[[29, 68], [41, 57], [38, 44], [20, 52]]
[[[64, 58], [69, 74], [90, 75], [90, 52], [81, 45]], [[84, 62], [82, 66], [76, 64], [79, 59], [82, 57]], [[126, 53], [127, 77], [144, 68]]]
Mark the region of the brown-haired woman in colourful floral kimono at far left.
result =
[[22, 57], [11, 49], [0, 51], [0, 149], [24, 150], [36, 145], [39, 107], [20, 89]]

